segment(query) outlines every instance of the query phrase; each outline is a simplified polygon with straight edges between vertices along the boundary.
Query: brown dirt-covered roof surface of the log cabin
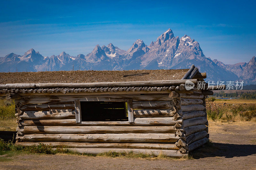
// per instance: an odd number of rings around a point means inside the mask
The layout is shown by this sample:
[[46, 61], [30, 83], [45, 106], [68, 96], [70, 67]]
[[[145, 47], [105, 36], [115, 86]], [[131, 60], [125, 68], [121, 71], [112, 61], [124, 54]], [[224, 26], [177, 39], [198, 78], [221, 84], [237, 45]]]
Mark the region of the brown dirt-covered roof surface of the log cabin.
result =
[[[180, 80], [188, 69], [124, 71], [45, 71], [0, 73], [0, 84], [10, 83], [92, 83], [120, 81]], [[131, 74], [149, 73], [142, 76]]]

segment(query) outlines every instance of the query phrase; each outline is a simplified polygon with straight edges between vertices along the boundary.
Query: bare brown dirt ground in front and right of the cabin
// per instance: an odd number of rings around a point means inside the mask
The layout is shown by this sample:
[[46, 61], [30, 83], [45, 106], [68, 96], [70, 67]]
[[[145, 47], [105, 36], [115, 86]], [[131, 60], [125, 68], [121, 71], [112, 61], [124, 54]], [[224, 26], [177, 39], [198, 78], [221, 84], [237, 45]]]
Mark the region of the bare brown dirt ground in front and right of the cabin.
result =
[[19, 154], [0, 169], [256, 169], [256, 122], [209, 122], [209, 133], [212, 144], [194, 150], [194, 159]]

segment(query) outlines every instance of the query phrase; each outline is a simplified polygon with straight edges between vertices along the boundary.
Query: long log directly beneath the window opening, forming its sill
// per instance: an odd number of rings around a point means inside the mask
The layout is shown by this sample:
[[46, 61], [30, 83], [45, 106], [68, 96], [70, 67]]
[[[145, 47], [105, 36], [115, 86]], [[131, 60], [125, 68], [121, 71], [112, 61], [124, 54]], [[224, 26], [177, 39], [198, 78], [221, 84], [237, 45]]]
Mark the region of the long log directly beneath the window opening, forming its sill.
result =
[[182, 120], [173, 120], [173, 117], [143, 117], [134, 118], [133, 123], [127, 121], [113, 122], [81, 122], [76, 123], [76, 119], [56, 119], [56, 120], [21, 120], [22, 126], [150, 126], [150, 125], [175, 125], [182, 124]]

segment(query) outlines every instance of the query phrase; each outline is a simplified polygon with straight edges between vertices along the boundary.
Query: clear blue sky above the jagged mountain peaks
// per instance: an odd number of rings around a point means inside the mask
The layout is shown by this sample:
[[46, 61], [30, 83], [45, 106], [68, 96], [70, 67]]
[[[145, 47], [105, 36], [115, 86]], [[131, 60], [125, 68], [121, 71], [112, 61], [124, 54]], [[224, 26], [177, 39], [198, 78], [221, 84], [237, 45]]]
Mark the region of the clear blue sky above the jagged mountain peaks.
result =
[[87, 54], [99, 44], [127, 50], [171, 28], [227, 64], [256, 55], [256, 1], [3, 1], [0, 56], [34, 48], [43, 56]]

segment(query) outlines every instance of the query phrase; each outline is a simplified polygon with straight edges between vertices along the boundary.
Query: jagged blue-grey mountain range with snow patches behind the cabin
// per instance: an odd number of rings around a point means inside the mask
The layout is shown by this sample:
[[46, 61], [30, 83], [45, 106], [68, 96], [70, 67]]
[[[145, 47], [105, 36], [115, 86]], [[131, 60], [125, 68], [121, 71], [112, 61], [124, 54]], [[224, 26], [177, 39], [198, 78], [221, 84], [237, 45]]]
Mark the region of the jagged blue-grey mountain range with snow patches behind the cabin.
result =
[[182, 69], [194, 64], [200, 72], [207, 73], [207, 81], [244, 81], [256, 84], [256, 58], [248, 63], [224, 64], [207, 58], [199, 43], [188, 35], [179, 38], [171, 29], [161, 34], [147, 46], [136, 40], [127, 50], [112, 43], [96, 45], [91, 53], [70, 56], [44, 57], [34, 49], [24, 55], [10, 53], [0, 57], [0, 72], [36, 72], [60, 70], [134, 70], [134, 69]]

